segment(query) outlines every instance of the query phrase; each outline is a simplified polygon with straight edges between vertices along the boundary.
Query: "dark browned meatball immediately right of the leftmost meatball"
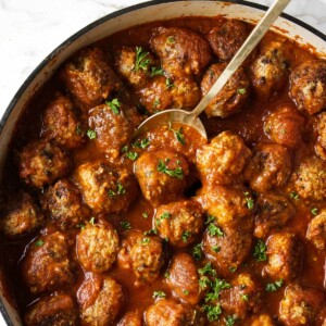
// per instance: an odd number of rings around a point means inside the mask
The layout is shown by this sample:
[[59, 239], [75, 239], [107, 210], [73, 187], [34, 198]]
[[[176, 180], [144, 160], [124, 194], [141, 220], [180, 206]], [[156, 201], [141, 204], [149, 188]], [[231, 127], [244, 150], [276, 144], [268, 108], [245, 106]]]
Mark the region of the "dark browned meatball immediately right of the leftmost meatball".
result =
[[61, 179], [49, 187], [42, 199], [42, 208], [62, 230], [74, 228], [90, 216], [78, 189], [67, 179]]

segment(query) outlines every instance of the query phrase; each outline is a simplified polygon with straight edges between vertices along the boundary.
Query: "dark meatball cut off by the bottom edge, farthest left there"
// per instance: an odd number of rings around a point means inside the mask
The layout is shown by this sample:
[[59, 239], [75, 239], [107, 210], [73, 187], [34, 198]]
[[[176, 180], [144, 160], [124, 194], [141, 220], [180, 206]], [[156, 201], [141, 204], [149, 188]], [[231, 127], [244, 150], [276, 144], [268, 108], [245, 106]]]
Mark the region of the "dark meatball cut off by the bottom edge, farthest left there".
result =
[[77, 325], [73, 299], [67, 294], [45, 297], [33, 304], [25, 315], [27, 326]]

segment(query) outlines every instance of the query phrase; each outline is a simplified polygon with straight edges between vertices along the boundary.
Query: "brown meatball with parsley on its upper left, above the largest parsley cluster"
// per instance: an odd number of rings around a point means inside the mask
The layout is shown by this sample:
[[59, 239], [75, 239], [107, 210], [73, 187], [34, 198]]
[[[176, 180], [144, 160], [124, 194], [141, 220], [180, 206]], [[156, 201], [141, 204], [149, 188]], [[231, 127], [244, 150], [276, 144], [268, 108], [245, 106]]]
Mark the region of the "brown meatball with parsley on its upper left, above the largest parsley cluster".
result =
[[216, 234], [213, 226], [209, 226], [204, 235], [203, 252], [212, 261], [218, 275], [231, 276], [250, 253], [252, 234], [240, 227], [223, 228]]

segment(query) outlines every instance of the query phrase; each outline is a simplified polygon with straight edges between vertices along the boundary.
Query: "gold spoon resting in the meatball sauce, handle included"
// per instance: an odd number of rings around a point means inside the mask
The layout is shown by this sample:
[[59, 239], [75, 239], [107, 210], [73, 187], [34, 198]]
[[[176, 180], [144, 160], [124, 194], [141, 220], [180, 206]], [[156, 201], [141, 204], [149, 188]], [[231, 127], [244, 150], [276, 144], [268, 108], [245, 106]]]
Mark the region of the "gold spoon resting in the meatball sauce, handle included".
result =
[[191, 126], [197, 129], [199, 134], [208, 138], [206, 130], [198, 117], [205, 108], [212, 102], [214, 97], [221, 91], [231, 75], [238, 70], [255, 46], [260, 42], [263, 36], [266, 34], [274, 21], [281, 14], [283, 10], [291, 0], [276, 0], [273, 5], [268, 9], [261, 22], [254, 27], [242, 47], [226, 66], [222, 75], [217, 78], [215, 84], [212, 86], [210, 91], [201, 99], [198, 105], [192, 111], [186, 111], [181, 109], [170, 109], [159, 113], [155, 113], [143, 121], [136, 131], [134, 138], [147, 133], [148, 130], [164, 125], [167, 123], [180, 123]]

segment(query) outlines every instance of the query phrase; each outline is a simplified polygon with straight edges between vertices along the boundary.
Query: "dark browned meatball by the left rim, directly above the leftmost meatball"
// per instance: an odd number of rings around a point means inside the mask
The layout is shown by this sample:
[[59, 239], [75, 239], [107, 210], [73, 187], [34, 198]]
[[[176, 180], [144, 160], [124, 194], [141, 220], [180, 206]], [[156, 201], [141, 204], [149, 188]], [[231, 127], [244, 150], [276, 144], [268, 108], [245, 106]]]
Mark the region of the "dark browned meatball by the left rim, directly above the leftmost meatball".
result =
[[18, 153], [18, 165], [20, 177], [25, 184], [42, 188], [68, 172], [70, 159], [55, 143], [35, 140]]

